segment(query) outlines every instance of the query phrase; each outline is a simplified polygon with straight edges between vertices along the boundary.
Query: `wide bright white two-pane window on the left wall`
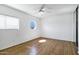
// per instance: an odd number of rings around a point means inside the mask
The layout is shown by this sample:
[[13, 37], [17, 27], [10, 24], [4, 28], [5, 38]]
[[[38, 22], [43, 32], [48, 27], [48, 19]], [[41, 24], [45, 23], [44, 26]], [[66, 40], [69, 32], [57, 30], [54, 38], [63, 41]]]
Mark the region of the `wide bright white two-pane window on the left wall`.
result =
[[0, 29], [19, 29], [19, 19], [0, 15]]

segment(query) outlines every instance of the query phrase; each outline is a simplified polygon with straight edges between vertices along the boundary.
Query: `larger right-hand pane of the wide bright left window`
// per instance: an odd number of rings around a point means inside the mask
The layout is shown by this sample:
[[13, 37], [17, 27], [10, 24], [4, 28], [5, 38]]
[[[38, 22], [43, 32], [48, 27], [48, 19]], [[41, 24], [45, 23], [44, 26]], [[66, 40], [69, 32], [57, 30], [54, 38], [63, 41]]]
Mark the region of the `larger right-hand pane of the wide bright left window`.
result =
[[6, 28], [7, 29], [19, 29], [19, 19], [7, 16]]

